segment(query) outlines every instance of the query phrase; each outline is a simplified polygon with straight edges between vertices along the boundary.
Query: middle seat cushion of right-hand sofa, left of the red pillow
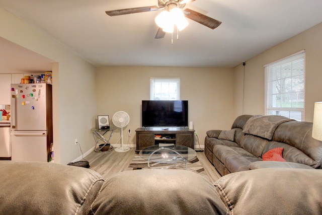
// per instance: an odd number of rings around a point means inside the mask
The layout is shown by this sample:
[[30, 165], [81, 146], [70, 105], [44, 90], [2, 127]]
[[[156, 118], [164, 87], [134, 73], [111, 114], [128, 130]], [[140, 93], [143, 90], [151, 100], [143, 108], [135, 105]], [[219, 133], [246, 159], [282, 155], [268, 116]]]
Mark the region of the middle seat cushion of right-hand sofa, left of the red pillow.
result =
[[240, 147], [217, 145], [213, 148], [213, 154], [223, 163], [229, 172], [249, 170], [251, 163], [262, 160]]

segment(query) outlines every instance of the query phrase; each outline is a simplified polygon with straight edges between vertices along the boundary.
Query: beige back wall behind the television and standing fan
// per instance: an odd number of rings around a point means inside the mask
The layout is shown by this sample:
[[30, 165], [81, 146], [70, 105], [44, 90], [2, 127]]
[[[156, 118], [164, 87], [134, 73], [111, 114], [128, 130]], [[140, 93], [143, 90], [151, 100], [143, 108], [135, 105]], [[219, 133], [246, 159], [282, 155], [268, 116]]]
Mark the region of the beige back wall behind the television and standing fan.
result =
[[[97, 113], [109, 115], [111, 124], [115, 112], [129, 114], [124, 143], [131, 129], [131, 144], [136, 144], [134, 131], [141, 127], [141, 101], [149, 100], [151, 77], [180, 78], [181, 100], [189, 101], [189, 120], [197, 130], [200, 145], [204, 145], [207, 130], [230, 129], [234, 120], [232, 68], [101, 67], [96, 76]], [[114, 132], [112, 144], [117, 142], [119, 132]]]

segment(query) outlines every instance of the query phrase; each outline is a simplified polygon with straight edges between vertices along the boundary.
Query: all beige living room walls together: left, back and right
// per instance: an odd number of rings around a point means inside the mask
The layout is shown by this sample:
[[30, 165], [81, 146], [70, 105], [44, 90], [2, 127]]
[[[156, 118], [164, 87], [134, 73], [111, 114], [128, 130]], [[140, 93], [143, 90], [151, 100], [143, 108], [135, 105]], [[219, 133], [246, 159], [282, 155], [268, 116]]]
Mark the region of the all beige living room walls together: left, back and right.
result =
[[[150, 77], [181, 78], [181, 99], [189, 100], [189, 120], [200, 144], [209, 129], [229, 129], [240, 114], [264, 114], [264, 65], [306, 50], [306, 121], [313, 119], [315, 101], [322, 101], [322, 24], [232, 68], [101, 67], [79, 58], [41, 30], [0, 9], [0, 37], [54, 60], [54, 145], [57, 163], [66, 164], [94, 147], [90, 129], [97, 115], [124, 110], [131, 122], [132, 144], [141, 126], [141, 100], [149, 99]], [[245, 83], [245, 85], [244, 85]], [[245, 95], [243, 97], [243, 92]], [[96, 95], [96, 96], [95, 96]], [[244, 101], [244, 102], [243, 102]], [[244, 105], [243, 105], [244, 104]], [[111, 142], [116, 142], [115, 132]]]

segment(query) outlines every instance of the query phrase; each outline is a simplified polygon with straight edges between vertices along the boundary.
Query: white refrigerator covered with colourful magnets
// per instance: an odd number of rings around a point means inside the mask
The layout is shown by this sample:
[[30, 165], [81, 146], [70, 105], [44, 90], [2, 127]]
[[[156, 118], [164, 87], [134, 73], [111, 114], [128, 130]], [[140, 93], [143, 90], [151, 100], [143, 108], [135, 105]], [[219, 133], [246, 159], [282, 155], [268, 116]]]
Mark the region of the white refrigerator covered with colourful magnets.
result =
[[52, 86], [11, 85], [11, 160], [48, 162], [52, 131]]

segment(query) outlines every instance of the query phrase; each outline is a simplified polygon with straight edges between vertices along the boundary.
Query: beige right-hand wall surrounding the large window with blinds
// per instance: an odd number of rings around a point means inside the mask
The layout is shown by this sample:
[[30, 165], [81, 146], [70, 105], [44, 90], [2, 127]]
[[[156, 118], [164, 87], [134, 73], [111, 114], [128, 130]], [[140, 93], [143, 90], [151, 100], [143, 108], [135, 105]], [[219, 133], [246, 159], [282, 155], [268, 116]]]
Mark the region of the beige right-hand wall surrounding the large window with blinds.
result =
[[[247, 60], [244, 114], [264, 114], [264, 65], [305, 49], [305, 121], [313, 121], [314, 102], [322, 101], [322, 23]], [[234, 70], [234, 115], [243, 113], [243, 65]]]

